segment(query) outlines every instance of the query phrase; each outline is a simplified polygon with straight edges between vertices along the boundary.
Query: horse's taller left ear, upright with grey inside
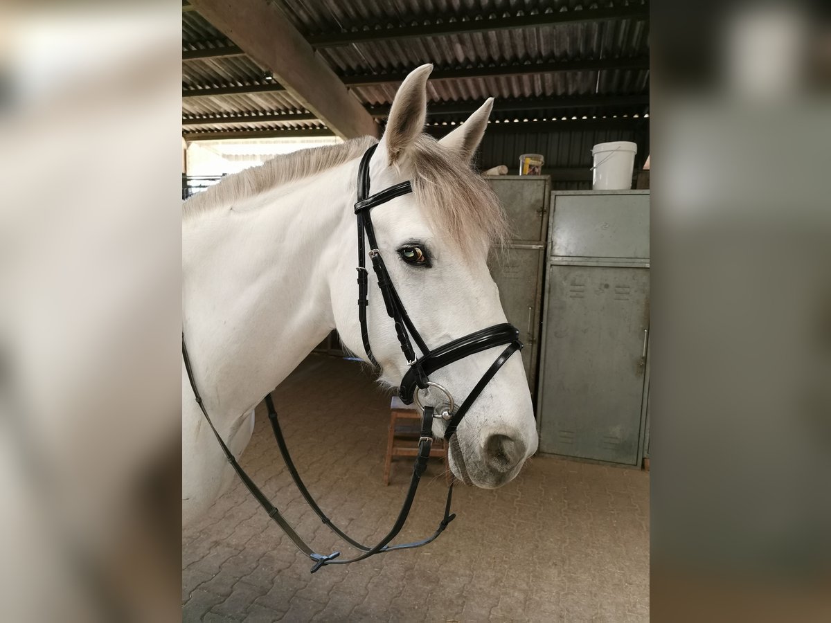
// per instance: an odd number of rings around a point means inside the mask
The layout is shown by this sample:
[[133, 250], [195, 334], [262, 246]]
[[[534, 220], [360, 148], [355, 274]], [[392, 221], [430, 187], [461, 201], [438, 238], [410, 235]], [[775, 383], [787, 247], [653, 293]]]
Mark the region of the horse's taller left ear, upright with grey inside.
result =
[[407, 146], [424, 130], [427, 118], [427, 78], [433, 71], [428, 63], [410, 72], [392, 101], [390, 116], [381, 143], [386, 148], [388, 164], [395, 164]]

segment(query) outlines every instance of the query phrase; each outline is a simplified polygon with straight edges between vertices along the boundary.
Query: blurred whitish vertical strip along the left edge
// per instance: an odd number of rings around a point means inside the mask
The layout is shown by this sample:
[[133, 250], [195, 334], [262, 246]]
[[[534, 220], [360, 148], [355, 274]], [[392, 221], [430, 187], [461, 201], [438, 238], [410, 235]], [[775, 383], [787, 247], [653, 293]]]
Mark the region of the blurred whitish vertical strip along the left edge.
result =
[[179, 15], [0, 7], [4, 621], [180, 616]]

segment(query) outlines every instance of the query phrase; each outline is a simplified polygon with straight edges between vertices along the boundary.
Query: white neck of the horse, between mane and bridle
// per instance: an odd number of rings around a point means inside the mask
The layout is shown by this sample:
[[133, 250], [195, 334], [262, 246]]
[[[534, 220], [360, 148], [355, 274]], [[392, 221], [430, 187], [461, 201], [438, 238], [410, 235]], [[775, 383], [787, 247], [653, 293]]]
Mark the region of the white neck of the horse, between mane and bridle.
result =
[[354, 251], [355, 169], [347, 163], [183, 223], [184, 336], [218, 415], [253, 408], [334, 328], [329, 282]]

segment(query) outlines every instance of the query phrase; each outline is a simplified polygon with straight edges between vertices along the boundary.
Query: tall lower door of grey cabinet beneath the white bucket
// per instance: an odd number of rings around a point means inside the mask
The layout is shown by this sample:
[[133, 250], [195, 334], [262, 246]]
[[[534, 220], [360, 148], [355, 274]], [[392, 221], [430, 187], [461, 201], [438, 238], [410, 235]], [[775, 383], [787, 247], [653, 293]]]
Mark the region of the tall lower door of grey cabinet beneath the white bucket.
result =
[[540, 450], [637, 464], [649, 271], [549, 270]]

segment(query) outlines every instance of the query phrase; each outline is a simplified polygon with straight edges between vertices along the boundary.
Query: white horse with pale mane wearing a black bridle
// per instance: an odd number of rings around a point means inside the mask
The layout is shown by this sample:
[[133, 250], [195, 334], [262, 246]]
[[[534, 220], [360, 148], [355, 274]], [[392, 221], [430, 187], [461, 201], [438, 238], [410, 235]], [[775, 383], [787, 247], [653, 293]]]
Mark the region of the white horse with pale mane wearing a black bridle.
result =
[[[372, 192], [412, 181], [412, 194], [375, 208], [372, 219], [401, 300], [434, 348], [505, 322], [486, 265], [505, 229], [497, 200], [470, 168], [493, 100], [436, 142], [422, 134], [431, 70], [420, 66], [401, 85], [370, 174]], [[353, 204], [358, 161], [374, 142], [366, 137], [279, 156], [184, 204], [184, 336], [204, 404], [236, 456], [251, 438], [254, 406], [329, 331], [337, 329], [344, 345], [366, 361]], [[372, 351], [381, 380], [398, 385], [408, 366], [372, 271], [369, 288]], [[502, 348], [466, 357], [430, 379], [461, 400]], [[436, 434], [442, 425], [435, 424]], [[537, 434], [519, 356], [479, 395], [456, 435], [470, 480], [483, 488], [507, 483], [534, 454]], [[450, 469], [460, 476], [452, 457]], [[183, 522], [204, 513], [233, 478], [183, 364]]]

